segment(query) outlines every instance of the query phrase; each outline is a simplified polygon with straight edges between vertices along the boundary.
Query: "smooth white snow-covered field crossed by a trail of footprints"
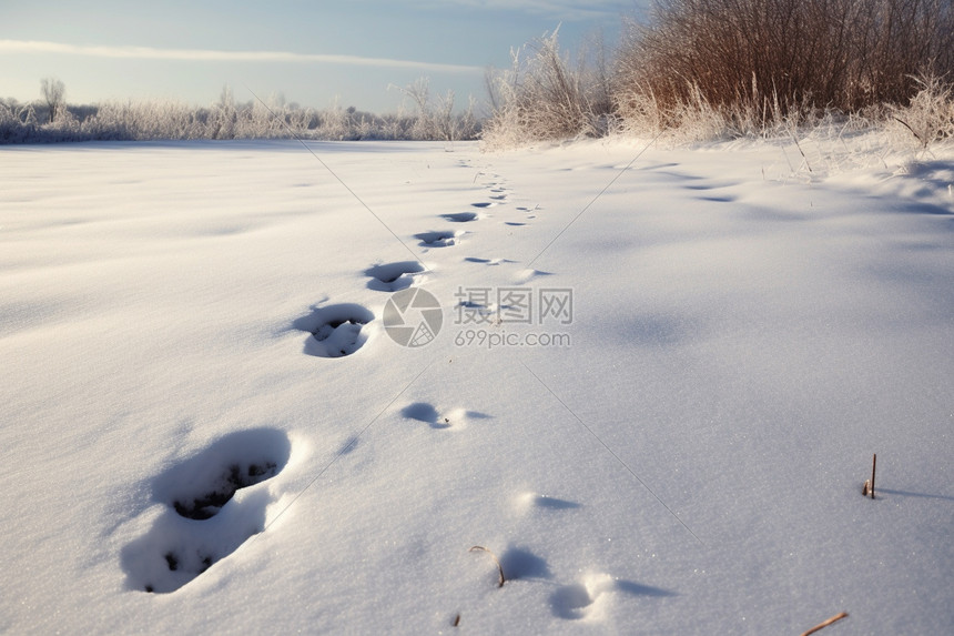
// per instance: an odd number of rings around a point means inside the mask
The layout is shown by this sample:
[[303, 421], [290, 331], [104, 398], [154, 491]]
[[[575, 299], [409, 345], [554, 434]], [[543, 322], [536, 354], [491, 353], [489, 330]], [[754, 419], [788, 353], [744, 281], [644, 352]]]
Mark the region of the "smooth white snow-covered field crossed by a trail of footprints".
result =
[[954, 632], [954, 163], [645, 144], [0, 150], [0, 632]]

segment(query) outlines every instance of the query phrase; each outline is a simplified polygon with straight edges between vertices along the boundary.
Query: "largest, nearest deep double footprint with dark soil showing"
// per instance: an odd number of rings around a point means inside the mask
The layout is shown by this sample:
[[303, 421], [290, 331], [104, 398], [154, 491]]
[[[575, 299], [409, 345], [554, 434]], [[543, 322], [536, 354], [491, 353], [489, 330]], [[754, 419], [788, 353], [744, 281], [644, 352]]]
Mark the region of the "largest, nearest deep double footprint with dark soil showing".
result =
[[282, 431], [241, 431], [158, 476], [152, 498], [165, 511], [121, 553], [128, 587], [175, 592], [262, 532], [275, 496], [258, 484], [285, 467], [291, 448]]

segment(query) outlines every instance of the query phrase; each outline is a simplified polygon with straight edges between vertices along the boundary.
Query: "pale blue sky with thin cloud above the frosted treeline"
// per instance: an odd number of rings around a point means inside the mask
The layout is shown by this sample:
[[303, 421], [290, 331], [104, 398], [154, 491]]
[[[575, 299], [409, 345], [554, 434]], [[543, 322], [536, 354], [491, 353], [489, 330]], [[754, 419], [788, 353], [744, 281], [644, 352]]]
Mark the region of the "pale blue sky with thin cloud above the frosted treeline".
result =
[[3, 0], [0, 98], [40, 97], [63, 81], [67, 101], [165, 100], [210, 104], [284, 99], [396, 112], [399, 88], [427, 78], [458, 108], [486, 100], [488, 67], [559, 27], [575, 50], [646, 0]]

